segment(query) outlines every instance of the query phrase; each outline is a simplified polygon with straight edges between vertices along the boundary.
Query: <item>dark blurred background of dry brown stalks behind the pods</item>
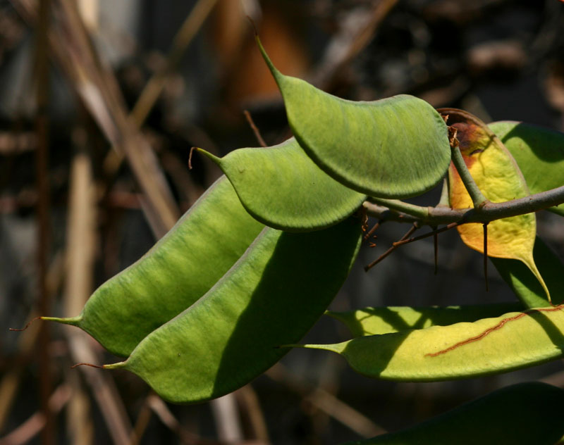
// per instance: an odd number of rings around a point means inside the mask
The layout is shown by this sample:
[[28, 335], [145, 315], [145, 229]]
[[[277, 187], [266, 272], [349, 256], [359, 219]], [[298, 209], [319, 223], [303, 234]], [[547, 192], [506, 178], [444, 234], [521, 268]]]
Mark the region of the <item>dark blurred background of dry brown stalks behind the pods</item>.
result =
[[[464, 382], [379, 382], [338, 356], [291, 351], [218, 401], [172, 406], [78, 329], [92, 291], [142, 256], [220, 172], [223, 155], [290, 136], [252, 18], [285, 74], [354, 100], [413, 94], [486, 122], [564, 130], [564, 3], [558, 0], [0, 1], [0, 444], [336, 444], [394, 431], [563, 366]], [[434, 190], [415, 202], [434, 205]], [[539, 234], [564, 257], [554, 215]], [[365, 246], [331, 308], [514, 301], [457, 235], [362, 266], [407, 230]], [[350, 334], [321, 318], [305, 341]]]

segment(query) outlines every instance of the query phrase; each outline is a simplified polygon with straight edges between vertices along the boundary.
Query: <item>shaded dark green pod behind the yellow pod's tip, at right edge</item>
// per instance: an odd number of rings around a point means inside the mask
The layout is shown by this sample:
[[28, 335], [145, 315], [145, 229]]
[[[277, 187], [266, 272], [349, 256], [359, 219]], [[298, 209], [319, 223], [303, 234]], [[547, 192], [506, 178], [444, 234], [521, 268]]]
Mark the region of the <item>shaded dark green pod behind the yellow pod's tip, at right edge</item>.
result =
[[[533, 249], [534, 262], [551, 292], [553, 304], [564, 301], [564, 264], [558, 255], [552, 251], [542, 239], [537, 237]], [[525, 264], [517, 260], [505, 258], [491, 258], [499, 275], [509, 284], [513, 292], [527, 308], [541, 308], [550, 306], [546, 299], [546, 292], [539, 280]]]

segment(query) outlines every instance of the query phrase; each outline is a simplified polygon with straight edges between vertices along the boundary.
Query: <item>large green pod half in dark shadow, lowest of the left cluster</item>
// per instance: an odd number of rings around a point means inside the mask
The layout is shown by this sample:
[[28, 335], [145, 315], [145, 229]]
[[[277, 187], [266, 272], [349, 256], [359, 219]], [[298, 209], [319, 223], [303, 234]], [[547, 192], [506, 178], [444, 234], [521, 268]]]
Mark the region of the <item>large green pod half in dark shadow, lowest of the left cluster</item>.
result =
[[205, 296], [159, 327], [127, 361], [164, 399], [195, 403], [250, 382], [303, 337], [348, 275], [360, 225], [290, 233], [266, 228]]

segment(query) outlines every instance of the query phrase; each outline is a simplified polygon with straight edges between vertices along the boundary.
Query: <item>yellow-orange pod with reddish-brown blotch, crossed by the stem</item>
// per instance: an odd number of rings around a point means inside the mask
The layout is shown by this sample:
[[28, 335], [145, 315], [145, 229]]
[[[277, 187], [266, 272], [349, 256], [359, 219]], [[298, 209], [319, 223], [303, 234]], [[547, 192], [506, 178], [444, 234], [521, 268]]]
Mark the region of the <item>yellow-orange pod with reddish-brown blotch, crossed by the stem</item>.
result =
[[[470, 174], [482, 194], [491, 202], [504, 202], [529, 196], [527, 183], [515, 159], [503, 146], [494, 132], [481, 120], [466, 111], [441, 108], [448, 115], [447, 123], [458, 130], [460, 152]], [[450, 206], [472, 208], [472, 199], [450, 165]], [[462, 241], [469, 247], [484, 253], [484, 227], [482, 224], [465, 224], [457, 227]], [[550, 293], [534, 263], [533, 246], [537, 233], [534, 213], [495, 220], [488, 225], [488, 256], [520, 260], [534, 273], [548, 298]]]

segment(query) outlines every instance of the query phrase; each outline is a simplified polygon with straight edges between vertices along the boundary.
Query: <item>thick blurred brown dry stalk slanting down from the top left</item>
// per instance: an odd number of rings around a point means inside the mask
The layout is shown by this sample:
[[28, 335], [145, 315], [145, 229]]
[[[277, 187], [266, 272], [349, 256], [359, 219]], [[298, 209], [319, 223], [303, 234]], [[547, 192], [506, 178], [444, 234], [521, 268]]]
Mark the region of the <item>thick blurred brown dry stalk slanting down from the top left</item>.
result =
[[[12, 0], [12, 4], [28, 23], [37, 23], [35, 2]], [[127, 156], [135, 179], [147, 196], [149, 205], [143, 211], [155, 236], [160, 238], [180, 216], [166, 177], [147, 139], [128, 118], [116, 77], [100, 61], [76, 1], [61, 0], [56, 5], [59, 21], [58, 26], [49, 30], [51, 51], [106, 138]]]

